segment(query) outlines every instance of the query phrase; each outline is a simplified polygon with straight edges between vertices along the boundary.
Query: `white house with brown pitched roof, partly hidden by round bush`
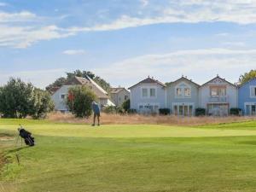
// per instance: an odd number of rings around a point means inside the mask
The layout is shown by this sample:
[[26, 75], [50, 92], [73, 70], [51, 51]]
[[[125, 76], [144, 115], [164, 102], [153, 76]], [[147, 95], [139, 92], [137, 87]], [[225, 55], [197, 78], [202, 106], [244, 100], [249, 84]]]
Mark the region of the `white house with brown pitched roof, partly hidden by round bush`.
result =
[[102, 87], [96, 84], [95, 81], [90, 79], [88, 76], [86, 78], [74, 77], [70, 82], [62, 85], [60, 88], [55, 90], [51, 98], [55, 103], [55, 110], [61, 112], [67, 112], [68, 108], [66, 105], [68, 90], [70, 87], [75, 85], [85, 85], [88, 86], [98, 97], [98, 102], [103, 106], [114, 106], [113, 102], [110, 101], [108, 92], [103, 90]]

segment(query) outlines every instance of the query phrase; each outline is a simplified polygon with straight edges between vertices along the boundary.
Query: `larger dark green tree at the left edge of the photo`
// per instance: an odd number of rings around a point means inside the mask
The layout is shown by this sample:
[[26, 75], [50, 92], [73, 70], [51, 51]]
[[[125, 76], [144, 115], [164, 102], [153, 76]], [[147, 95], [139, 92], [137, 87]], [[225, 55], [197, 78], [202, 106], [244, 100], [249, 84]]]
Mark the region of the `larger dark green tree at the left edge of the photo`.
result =
[[5, 118], [25, 118], [30, 113], [33, 86], [10, 78], [0, 91], [0, 113]]

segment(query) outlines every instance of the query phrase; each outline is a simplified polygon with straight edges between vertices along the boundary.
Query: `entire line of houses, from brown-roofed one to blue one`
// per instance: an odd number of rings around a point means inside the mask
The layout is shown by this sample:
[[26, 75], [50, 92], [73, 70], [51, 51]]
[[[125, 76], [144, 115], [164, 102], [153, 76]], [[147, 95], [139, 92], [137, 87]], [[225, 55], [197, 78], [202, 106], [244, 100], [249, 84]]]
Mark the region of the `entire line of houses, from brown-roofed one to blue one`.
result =
[[196, 108], [205, 108], [208, 115], [225, 116], [230, 108], [241, 108], [242, 114], [256, 114], [256, 79], [236, 85], [219, 76], [201, 85], [185, 77], [168, 84], [148, 77], [131, 86], [130, 92], [119, 87], [112, 88], [109, 94], [89, 77], [75, 77], [53, 93], [55, 110], [68, 111], [68, 89], [78, 84], [88, 86], [102, 107], [121, 107], [131, 99], [131, 108], [137, 113], [159, 113], [160, 108], [169, 108], [174, 115], [193, 116]]

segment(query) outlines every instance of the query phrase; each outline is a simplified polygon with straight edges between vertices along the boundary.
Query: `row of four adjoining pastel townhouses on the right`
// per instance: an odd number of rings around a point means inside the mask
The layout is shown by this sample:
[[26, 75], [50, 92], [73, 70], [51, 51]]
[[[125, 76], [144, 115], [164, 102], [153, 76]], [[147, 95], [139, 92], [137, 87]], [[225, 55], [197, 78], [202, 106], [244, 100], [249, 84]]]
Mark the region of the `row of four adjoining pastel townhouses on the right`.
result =
[[169, 84], [148, 77], [129, 90], [131, 108], [138, 113], [158, 113], [160, 108], [182, 116], [195, 115], [195, 108], [215, 116], [228, 115], [230, 108], [241, 108], [245, 115], [256, 113], [256, 79], [238, 86], [218, 75], [202, 85], [185, 77]]

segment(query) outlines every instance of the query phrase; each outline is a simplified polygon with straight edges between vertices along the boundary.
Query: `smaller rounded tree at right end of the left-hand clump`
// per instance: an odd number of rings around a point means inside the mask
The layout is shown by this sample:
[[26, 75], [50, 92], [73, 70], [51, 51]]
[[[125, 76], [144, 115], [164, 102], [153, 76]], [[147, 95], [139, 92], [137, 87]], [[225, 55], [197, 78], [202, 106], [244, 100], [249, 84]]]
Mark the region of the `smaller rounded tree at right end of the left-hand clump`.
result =
[[53, 101], [50, 98], [49, 92], [34, 89], [32, 94], [32, 108], [30, 114], [33, 119], [45, 118], [47, 113], [55, 108]]

